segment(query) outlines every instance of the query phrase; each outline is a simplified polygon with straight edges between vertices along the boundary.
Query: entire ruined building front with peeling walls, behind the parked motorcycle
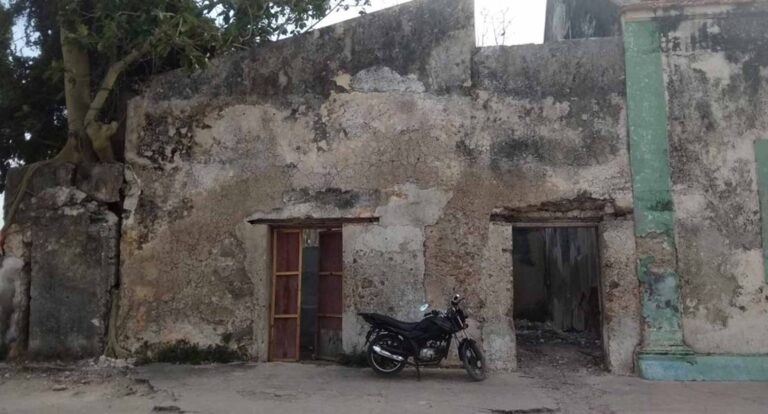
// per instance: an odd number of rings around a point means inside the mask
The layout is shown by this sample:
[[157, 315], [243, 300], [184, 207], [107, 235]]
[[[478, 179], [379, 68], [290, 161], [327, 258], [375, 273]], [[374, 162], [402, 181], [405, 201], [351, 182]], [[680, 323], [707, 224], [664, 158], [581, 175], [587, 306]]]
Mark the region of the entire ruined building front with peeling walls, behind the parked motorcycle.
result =
[[497, 369], [546, 314], [611, 372], [768, 379], [768, 4], [578, 3], [542, 45], [417, 0], [155, 78], [124, 166], [35, 177], [6, 352], [334, 357], [460, 292]]

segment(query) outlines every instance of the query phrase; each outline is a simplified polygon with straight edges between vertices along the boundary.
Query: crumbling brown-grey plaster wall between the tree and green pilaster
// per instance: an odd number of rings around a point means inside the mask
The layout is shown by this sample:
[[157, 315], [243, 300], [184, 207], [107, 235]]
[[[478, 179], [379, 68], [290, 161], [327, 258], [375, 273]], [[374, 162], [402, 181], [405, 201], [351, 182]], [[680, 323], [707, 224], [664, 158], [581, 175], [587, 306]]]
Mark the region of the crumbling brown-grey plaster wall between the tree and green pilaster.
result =
[[511, 228], [489, 218], [563, 200], [631, 210], [622, 48], [476, 50], [472, 17], [468, 0], [416, 1], [134, 99], [121, 346], [266, 358], [268, 229], [246, 221], [373, 217], [343, 227], [345, 350], [355, 312], [415, 318], [459, 292], [491, 363], [514, 367]]

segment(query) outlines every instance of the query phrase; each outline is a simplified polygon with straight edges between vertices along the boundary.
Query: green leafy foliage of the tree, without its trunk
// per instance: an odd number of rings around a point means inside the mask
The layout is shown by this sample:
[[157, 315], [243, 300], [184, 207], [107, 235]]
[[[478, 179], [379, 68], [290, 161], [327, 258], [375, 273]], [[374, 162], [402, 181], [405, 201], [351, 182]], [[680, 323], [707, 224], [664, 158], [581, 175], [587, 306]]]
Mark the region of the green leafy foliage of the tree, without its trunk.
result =
[[[334, 1], [334, 3], [332, 3]], [[338, 1], [337, 3], [335, 1]], [[303, 32], [330, 10], [369, 0], [0, 0], [0, 191], [20, 161], [50, 158], [66, 142], [61, 52], [64, 40], [87, 52], [91, 96], [110, 67], [121, 70], [100, 121], [124, 118], [123, 101], [153, 73], [197, 70], [224, 53]], [[14, 25], [25, 28], [19, 53]], [[118, 153], [119, 158], [119, 153]]]

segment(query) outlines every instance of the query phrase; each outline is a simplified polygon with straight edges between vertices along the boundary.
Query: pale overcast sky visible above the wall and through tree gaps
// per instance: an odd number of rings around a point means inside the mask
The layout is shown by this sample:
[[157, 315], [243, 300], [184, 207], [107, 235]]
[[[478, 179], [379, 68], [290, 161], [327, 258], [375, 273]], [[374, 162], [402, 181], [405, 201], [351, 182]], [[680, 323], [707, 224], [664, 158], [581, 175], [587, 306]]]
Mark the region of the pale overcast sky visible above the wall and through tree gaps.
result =
[[[5, 3], [5, 0], [0, 0]], [[410, 0], [371, 0], [368, 13], [392, 7]], [[475, 0], [475, 29], [478, 46], [520, 45], [544, 40], [546, 0]], [[317, 27], [330, 26], [360, 15], [359, 8], [339, 10], [323, 19]], [[15, 28], [14, 38], [21, 39], [21, 28]], [[0, 194], [0, 226], [3, 223], [3, 194]]]

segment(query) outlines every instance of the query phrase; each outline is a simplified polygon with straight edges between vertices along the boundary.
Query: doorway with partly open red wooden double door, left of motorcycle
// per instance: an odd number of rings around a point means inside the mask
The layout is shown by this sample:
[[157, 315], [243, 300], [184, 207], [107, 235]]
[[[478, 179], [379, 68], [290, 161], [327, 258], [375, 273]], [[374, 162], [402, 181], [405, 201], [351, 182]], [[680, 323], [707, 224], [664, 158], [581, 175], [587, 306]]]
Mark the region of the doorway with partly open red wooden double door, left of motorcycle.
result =
[[274, 228], [270, 361], [337, 358], [342, 292], [340, 228]]

